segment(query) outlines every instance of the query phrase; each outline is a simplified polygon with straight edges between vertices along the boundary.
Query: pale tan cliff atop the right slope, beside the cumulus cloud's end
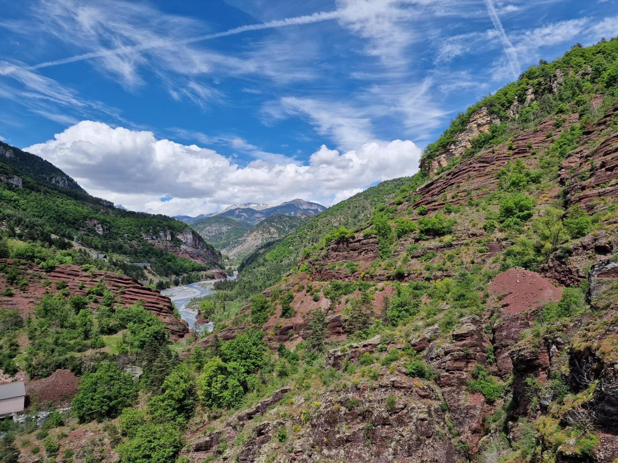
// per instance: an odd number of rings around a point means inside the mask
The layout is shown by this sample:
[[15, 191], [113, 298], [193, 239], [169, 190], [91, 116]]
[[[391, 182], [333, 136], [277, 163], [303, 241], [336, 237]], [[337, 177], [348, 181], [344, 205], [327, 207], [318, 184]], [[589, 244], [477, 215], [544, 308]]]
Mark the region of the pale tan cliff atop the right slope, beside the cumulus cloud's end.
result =
[[493, 123], [500, 123], [500, 119], [490, 115], [488, 109], [482, 107], [470, 117], [465, 130], [455, 136], [455, 141], [447, 146], [446, 151], [439, 153], [429, 161], [421, 160], [420, 169], [433, 177], [439, 169], [449, 164], [452, 158], [462, 157], [466, 149], [472, 148], [472, 139], [488, 131]]

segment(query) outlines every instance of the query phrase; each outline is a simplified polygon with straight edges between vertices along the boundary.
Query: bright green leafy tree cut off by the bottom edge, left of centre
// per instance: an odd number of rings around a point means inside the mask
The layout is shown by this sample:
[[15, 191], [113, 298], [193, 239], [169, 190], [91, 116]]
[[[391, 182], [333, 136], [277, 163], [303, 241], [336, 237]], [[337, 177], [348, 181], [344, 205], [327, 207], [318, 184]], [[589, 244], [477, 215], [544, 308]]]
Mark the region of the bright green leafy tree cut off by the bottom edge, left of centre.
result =
[[145, 423], [116, 451], [123, 463], [170, 463], [182, 448], [182, 433], [172, 423]]

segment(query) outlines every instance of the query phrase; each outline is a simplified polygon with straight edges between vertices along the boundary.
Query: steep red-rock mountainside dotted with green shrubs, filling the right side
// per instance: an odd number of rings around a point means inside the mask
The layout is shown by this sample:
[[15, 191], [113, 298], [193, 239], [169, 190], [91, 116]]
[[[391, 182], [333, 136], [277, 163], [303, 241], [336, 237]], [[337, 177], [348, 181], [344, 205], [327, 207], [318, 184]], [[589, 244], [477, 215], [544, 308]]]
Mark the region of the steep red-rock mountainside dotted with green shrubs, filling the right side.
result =
[[[496, 94], [499, 120], [486, 99], [428, 148], [427, 181], [356, 230], [305, 241], [299, 272], [200, 343], [260, 327], [277, 378], [239, 412], [196, 423], [182, 454], [615, 461], [616, 59], [618, 41], [603, 41], [528, 70], [510, 101]], [[234, 291], [295, 253], [303, 227]]]

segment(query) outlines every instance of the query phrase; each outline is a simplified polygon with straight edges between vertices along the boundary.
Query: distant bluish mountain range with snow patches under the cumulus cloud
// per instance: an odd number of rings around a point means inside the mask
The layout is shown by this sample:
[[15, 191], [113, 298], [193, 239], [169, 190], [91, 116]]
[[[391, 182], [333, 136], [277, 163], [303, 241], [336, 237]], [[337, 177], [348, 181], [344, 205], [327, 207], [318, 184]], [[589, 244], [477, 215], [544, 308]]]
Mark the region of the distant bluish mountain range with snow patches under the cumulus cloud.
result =
[[[230, 219], [244, 222], [249, 227], [261, 222], [262, 220], [271, 217], [271, 215], [308, 215], [320, 214], [326, 207], [317, 202], [309, 202], [304, 199], [292, 199], [273, 206], [272, 204], [264, 204], [263, 202], [245, 202], [243, 204], [232, 204], [221, 211], [211, 212], [210, 214], [200, 214], [197, 217], [190, 215], [176, 215], [175, 219], [190, 225], [196, 224], [199, 220], [208, 217], [229, 217]], [[199, 231], [199, 230], [198, 230]]]

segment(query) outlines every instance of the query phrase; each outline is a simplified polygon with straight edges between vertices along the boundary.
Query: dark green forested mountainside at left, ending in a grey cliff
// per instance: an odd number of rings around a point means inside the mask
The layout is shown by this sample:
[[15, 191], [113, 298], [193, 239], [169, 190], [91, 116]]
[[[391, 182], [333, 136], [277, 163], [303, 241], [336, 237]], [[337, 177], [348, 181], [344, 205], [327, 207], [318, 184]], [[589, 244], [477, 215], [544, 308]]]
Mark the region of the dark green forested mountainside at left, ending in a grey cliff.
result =
[[[4, 159], [23, 166], [44, 183], [0, 162], [2, 235], [59, 249], [75, 244], [113, 253], [136, 278], [143, 278], [143, 270], [130, 262], [150, 263], [163, 277], [216, 269], [221, 263], [221, 254], [184, 223], [164, 215], [124, 211], [94, 198], [38, 156], [12, 151]], [[62, 186], [56, 185], [58, 178], [66, 179]]]

